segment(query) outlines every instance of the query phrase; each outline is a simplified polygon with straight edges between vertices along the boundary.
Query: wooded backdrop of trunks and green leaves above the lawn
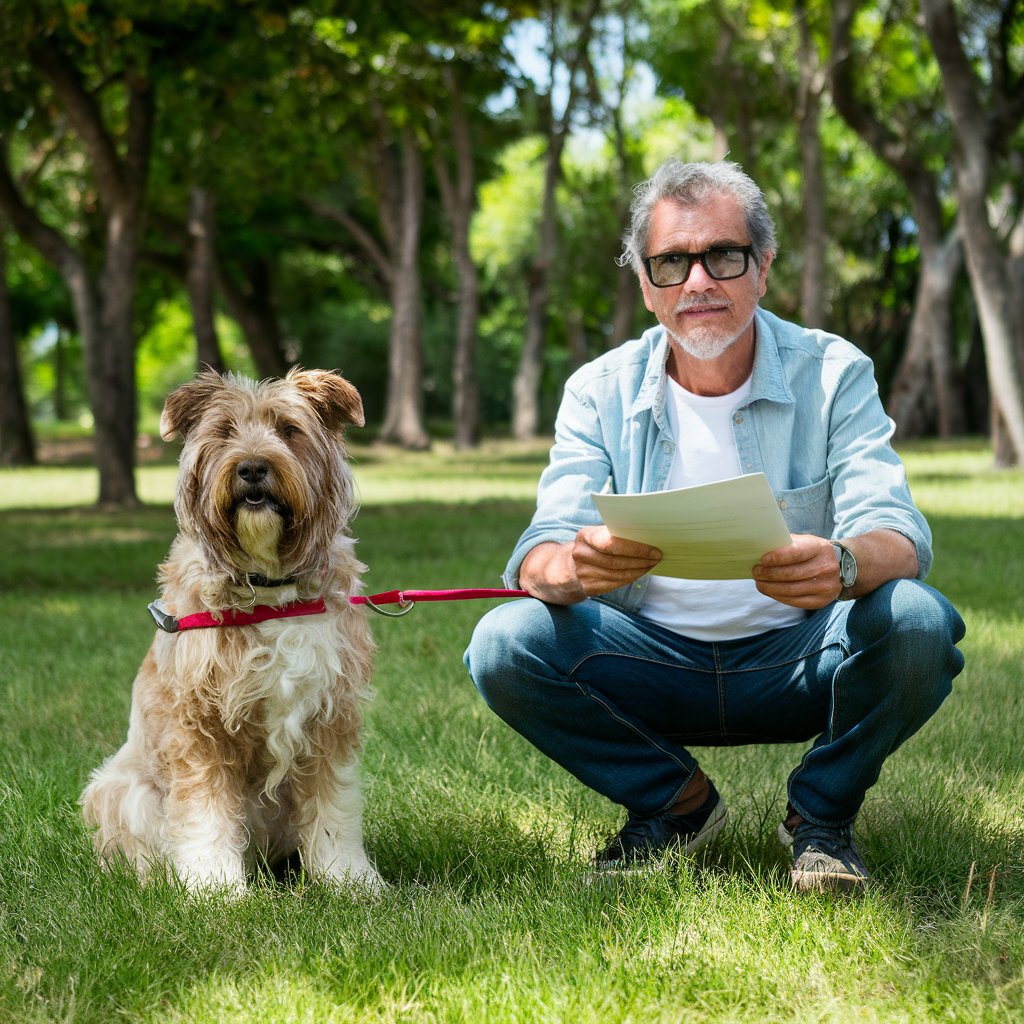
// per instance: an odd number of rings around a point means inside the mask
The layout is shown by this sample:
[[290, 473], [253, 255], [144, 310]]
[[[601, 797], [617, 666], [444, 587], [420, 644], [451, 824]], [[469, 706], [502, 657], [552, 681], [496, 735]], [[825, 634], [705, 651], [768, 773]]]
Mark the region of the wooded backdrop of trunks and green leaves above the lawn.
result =
[[0, 459], [87, 414], [130, 505], [202, 365], [340, 368], [411, 447], [546, 430], [646, 326], [614, 260], [679, 156], [758, 180], [766, 304], [903, 435], [1018, 462], [1022, 74], [1013, 0], [0, 0]]

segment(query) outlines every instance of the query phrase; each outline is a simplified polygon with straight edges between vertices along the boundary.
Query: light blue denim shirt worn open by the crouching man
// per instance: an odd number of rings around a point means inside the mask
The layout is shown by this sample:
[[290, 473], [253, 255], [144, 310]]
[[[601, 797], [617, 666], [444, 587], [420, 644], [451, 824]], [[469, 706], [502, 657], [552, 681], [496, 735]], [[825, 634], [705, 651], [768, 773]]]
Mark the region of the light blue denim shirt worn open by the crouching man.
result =
[[[871, 360], [848, 341], [758, 309], [751, 394], [732, 418], [742, 472], [763, 472], [792, 534], [834, 540], [870, 529], [903, 534], [918, 575], [932, 565], [928, 523], [910, 498], [890, 444], [893, 422], [879, 399]], [[571, 541], [601, 521], [592, 493], [664, 490], [677, 443], [665, 410], [665, 328], [599, 356], [565, 384], [537, 512], [505, 570], [546, 541]], [[637, 610], [648, 577], [604, 596]]]

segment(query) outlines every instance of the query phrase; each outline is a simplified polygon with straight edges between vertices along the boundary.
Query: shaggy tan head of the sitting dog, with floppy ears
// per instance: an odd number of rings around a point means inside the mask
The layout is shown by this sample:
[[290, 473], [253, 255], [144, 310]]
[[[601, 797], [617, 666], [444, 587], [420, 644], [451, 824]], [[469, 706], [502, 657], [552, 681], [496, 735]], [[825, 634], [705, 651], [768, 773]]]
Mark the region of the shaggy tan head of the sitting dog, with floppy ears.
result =
[[296, 369], [260, 383], [199, 374], [160, 420], [165, 440], [184, 440], [179, 528], [231, 574], [319, 569], [353, 507], [342, 432], [362, 423], [359, 393], [335, 373]]

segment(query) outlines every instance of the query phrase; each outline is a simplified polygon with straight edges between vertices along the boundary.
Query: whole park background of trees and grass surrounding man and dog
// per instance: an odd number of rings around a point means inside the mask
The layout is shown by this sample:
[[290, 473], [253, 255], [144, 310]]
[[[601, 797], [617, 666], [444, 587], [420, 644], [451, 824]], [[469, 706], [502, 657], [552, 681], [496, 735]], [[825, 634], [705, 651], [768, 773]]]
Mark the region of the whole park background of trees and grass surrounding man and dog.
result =
[[[1022, 18], [0, 0], [0, 1021], [1024, 1020]], [[701, 752], [721, 840], [588, 884], [618, 809], [475, 695], [486, 602], [374, 621], [379, 899], [101, 872], [76, 801], [152, 635], [167, 392], [341, 369], [367, 587], [495, 585], [567, 373], [647, 326], [633, 183], [725, 155], [778, 221], [765, 305], [873, 358], [968, 623], [858, 819], [867, 896], [790, 892], [799, 744]]]

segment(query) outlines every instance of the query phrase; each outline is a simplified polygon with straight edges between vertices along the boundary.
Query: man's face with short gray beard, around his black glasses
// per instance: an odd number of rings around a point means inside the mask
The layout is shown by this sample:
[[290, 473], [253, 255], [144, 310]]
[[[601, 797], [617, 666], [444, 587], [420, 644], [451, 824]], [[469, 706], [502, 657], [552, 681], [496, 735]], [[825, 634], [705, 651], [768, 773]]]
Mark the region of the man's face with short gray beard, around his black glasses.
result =
[[[683, 207], [662, 200], [654, 207], [647, 256], [670, 252], [699, 253], [721, 246], [751, 244], [739, 205], [731, 196], [714, 196], [700, 206]], [[754, 310], [765, 294], [770, 258], [731, 281], [715, 281], [699, 262], [682, 285], [655, 288], [640, 274], [647, 308], [690, 355], [714, 359], [736, 342], [754, 341]]]

